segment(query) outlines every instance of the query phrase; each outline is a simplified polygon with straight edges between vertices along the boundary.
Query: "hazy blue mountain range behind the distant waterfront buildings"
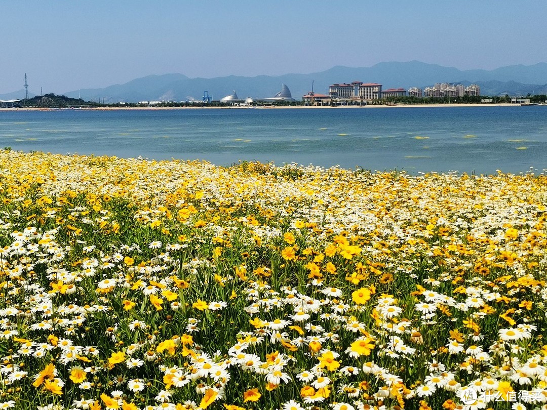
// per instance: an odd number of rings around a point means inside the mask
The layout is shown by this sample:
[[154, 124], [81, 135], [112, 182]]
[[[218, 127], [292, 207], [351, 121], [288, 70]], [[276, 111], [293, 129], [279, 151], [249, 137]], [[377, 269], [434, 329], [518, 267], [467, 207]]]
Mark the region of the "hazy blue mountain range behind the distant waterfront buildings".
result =
[[[220, 99], [236, 91], [238, 97], [272, 97], [280, 91], [281, 83], [287, 84], [293, 98], [300, 99], [311, 91], [312, 80], [316, 93], [327, 93], [333, 83], [380, 83], [382, 89], [394, 87], [424, 88], [435, 83], [479, 84], [481, 95], [522, 95], [547, 93], [547, 63], [532, 66], [507, 66], [494, 70], [459, 70], [454, 67], [410, 62], [383, 62], [372, 67], [336, 66], [311, 74], [284, 74], [257, 77], [188, 78], [183, 74], [148, 75], [125, 84], [111, 85], [102, 89], [80, 89], [64, 92], [68, 97], [81, 97], [86, 101], [104, 100], [106, 103], [138, 101], [188, 101], [201, 100], [207, 90], [213, 99]], [[18, 92], [0, 95], [0, 98], [21, 98]], [[22, 93], [24, 95], [24, 92]]]

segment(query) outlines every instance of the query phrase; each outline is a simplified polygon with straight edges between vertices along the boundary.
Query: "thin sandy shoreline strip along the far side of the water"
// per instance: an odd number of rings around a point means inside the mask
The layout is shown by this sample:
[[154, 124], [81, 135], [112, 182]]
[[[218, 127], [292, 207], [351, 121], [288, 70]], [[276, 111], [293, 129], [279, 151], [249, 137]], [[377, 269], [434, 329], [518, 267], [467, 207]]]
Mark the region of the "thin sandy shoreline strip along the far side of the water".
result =
[[0, 112], [25, 111], [120, 111], [120, 110], [196, 110], [196, 109], [359, 109], [359, 108], [454, 108], [454, 107], [521, 107], [521, 104], [395, 104], [370, 106], [281, 106], [281, 107], [86, 107], [86, 108], [0, 108]]

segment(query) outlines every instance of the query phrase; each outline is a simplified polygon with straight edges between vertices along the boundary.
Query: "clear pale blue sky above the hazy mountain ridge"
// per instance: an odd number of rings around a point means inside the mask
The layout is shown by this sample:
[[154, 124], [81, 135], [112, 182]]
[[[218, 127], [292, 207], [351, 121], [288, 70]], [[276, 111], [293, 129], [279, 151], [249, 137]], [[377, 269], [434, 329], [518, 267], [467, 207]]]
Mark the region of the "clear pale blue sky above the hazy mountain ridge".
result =
[[546, 25], [543, 0], [3, 0], [0, 93], [20, 90], [24, 73], [30, 91], [62, 93], [149, 74], [532, 65], [547, 60]]

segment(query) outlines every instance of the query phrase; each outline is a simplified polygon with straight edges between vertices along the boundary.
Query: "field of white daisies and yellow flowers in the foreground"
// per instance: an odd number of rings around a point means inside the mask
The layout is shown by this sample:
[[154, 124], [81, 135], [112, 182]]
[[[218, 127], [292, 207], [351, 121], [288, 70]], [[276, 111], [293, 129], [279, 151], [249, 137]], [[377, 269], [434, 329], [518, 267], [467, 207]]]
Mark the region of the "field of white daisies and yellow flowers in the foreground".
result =
[[0, 408], [545, 409], [545, 204], [543, 175], [3, 150]]

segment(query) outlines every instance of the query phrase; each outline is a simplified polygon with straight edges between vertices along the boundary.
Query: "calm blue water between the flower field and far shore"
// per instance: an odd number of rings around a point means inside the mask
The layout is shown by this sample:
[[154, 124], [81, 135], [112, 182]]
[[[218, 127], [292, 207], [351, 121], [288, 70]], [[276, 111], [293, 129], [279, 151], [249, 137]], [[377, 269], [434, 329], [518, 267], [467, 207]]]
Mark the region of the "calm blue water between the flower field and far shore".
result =
[[475, 173], [547, 168], [547, 106], [0, 112], [0, 148]]

